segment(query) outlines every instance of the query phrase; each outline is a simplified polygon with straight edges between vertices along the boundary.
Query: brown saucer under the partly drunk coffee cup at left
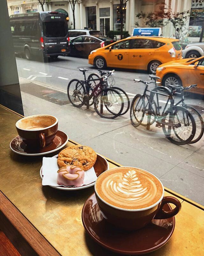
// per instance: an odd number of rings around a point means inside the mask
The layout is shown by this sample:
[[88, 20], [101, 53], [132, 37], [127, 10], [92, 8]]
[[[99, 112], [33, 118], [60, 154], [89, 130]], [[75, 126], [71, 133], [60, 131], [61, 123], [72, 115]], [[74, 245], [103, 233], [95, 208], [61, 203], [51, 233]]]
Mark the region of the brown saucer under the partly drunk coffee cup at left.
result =
[[28, 149], [26, 148], [25, 143], [21, 140], [20, 136], [16, 136], [13, 140], [11, 140], [10, 148], [13, 152], [19, 155], [40, 156], [55, 152], [60, 148], [63, 148], [67, 144], [68, 140], [69, 138], [67, 134], [58, 130], [53, 143], [46, 148], [39, 148], [33, 150]]

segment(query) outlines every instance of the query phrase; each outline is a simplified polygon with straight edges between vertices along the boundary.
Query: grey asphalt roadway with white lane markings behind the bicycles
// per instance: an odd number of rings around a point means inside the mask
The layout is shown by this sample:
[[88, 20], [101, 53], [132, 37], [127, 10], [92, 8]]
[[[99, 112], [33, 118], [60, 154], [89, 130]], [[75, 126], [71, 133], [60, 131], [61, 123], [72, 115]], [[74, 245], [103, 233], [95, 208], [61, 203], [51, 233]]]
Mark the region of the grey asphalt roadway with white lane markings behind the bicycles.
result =
[[[83, 58], [62, 56], [58, 57], [57, 60], [48, 60], [43, 63], [38, 60], [25, 60], [21, 57], [17, 57], [16, 61], [19, 77], [29, 79], [32, 82], [46, 84], [62, 92], [67, 91], [67, 85], [71, 79], [84, 79], [83, 73], [79, 71], [79, 68], [87, 68], [89, 70], [86, 73], [87, 77], [91, 73], [98, 72], [95, 67], [88, 64], [87, 59]], [[106, 70], [112, 69], [113, 68], [106, 68]], [[149, 80], [149, 74], [147, 71], [115, 68], [115, 86], [125, 90], [130, 100], [134, 98], [135, 94], [144, 91], [144, 85], [142, 83], [134, 83], [134, 78]], [[153, 88], [154, 84], [149, 85], [149, 89]], [[163, 100], [165, 101], [165, 99]], [[186, 97], [186, 103], [204, 107], [202, 96], [196, 94], [191, 94], [190, 97]]]

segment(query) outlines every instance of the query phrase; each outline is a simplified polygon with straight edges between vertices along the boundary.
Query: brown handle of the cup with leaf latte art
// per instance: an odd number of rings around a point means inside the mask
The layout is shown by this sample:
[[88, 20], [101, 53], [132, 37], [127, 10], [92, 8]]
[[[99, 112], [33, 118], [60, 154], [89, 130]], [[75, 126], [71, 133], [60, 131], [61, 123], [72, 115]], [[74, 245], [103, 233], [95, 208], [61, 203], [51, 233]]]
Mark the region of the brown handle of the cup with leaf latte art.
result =
[[[163, 206], [164, 204], [167, 203], [171, 203], [174, 204], [176, 206], [176, 208], [170, 210], [170, 211], [164, 211]], [[154, 219], [160, 220], [160, 219], [168, 219], [171, 218], [173, 216], [175, 216], [181, 209], [181, 203], [179, 202], [178, 199], [176, 199], [175, 197], [172, 196], [164, 196], [164, 198], [162, 199], [159, 208], [158, 208], [158, 212], [155, 215]]]

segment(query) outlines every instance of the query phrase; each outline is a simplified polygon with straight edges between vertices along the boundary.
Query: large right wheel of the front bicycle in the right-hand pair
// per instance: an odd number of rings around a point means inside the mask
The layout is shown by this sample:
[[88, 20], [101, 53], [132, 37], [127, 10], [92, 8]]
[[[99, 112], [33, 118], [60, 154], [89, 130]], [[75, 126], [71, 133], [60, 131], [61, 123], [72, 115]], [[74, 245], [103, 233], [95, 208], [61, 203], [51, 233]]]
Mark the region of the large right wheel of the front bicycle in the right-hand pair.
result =
[[173, 106], [164, 113], [162, 129], [168, 140], [177, 145], [185, 145], [193, 140], [196, 131], [192, 114], [184, 107]]

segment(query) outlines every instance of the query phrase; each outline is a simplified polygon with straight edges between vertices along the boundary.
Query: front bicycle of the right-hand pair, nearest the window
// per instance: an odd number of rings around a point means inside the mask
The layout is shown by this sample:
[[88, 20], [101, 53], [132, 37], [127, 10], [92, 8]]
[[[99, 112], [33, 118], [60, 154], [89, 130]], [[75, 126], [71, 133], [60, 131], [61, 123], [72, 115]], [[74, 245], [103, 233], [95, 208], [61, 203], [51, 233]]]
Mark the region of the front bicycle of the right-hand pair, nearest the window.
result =
[[[162, 127], [166, 138], [174, 144], [184, 145], [193, 140], [196, 131], [195, 120], [186, 108], [174, 105], [171, 90], [164, 86], [157, 86], [150, 91], [150, 95], [147, 95], [148, 86], [152, 82], [140, 79], [134, 79], [134, 81], [145, 84], [145, 89], [142, 95], [137, 94], [132, 101], [130, 107], [131, 123], [135, 127], [139, 126], [145, 113], [147, 113], [147, 130], [149, 130], [151, 124], [156, 122], [156, 127]], [[162, 92], [158, 92], [160, 90]], [[160, 114], [159, 101], [156, 103], [153, 99], [155, 94], [168, 97], [162, 114]], [[145, 99], [147, 103], [145, 103]], [[169, 103], [170, 107], [167, 108]]]

